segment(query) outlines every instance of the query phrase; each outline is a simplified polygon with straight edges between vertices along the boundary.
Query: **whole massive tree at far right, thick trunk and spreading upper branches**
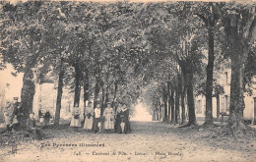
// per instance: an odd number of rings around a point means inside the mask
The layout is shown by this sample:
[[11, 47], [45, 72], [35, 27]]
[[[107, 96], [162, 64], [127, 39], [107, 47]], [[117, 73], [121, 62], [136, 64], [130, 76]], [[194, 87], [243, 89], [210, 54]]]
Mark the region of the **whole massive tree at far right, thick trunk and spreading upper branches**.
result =
[[256, 38], [255, 4], [217, 4], [217, 10], [224, 25], [227, 53], [231, 60], [229, 128], [235, 136], [249, 130], [243, 120], [245, 107], [244, 67], [250, 48]]

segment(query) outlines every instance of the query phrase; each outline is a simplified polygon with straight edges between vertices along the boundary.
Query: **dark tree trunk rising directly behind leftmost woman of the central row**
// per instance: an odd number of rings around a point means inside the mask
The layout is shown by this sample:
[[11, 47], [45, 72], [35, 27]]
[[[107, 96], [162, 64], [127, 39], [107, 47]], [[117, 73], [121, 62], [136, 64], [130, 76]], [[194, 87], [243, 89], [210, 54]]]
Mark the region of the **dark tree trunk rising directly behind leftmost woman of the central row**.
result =
[[80, 93], [81, 93], [81, 71], [78, 65], [75, 67], [75, 97], [74, 97], [74, 106], [80, 102]]

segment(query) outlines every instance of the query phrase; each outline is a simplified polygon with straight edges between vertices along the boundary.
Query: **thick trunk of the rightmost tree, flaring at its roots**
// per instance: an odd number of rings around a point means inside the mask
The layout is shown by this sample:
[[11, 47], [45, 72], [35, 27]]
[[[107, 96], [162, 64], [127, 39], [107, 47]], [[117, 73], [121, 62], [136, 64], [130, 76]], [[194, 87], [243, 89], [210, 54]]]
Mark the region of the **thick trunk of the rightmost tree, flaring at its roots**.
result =
[[[255, 11], [254, 11], [255, 12]], [[227, 28], [229, 55], [231, 59], [231, 82], [230, 82], [230, 105], [228, 126], [234, 136], [244, 135], [248, 127], [243, 120], [243, 110], [245, 108], [244, 94], [244, 64], [249, 53], [249, 43], [243, 36], [246, 33], [238, 33], [238, 24], [241, 21], [246, 25], [247, 17], [240, 18], [235, 15], [230, 16], [230, 27]], [[241, 24], [241, 23], [240, 23]], [[251, 25], [255, 27], [255, 24]], [[245, 26], [245, 30], [247, 26]], [[249, 24], [248, 24], [248, 27]], [[244, 29], [244, 28], [243, 28]], [[243, 32], [245, 31], [243, 30]], [[249, 33], [247, 33], [249, 34]]]

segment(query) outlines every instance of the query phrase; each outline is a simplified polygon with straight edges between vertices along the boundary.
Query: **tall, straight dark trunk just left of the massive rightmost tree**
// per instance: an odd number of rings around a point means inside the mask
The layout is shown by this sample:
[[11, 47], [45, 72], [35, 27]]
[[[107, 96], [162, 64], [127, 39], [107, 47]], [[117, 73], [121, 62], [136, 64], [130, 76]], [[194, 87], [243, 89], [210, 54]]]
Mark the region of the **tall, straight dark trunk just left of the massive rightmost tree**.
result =
[[215, 21], [213, 16], [208, 19], [208, 64], [206, 68], [207, 80], [206, 80], [206, 117], [204, 126], [213, 126], [213, 74], [215, 63], [215, 51], [214, 51], [214, 27]]

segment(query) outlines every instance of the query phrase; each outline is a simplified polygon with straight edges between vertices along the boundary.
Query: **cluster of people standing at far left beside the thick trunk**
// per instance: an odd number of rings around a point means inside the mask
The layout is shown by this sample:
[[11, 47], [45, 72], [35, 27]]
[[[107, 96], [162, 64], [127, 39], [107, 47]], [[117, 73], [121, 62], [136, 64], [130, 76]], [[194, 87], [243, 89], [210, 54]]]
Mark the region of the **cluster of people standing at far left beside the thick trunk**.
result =
[[18, 97], [14, 97], [14, 101], [6, 101], [4, 109], [4, 119], [7, 132], [17, 131], [23, 118], [23, 112], [21, 110], [22, 104], [18, 102]]

